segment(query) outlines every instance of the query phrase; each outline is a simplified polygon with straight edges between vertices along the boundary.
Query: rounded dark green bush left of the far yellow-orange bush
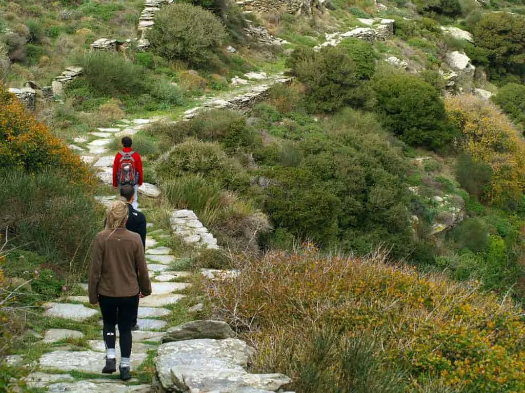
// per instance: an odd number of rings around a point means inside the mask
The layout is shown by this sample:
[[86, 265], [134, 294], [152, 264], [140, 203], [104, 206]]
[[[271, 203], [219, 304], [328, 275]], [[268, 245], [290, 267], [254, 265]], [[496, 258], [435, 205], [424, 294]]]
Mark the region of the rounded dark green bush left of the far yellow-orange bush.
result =
[[409, 145], [436, 149], [454, 138], [445, 105], [429, 83], [409, 74], [387, 74], [373, 84], [383, 126]]

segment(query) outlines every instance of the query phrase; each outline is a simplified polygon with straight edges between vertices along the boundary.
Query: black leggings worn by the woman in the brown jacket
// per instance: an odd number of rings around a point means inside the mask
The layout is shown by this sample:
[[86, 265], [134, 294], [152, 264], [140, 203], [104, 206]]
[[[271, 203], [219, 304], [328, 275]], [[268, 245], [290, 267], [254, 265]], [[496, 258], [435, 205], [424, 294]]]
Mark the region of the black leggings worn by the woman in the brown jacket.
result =
[[106, 348], [114, 348], [116, 343], [115, 325], [119, 325], [120, 356], [131, 355], [131, 328], [137, 320], [139, 294], [127, 298], [113, 298], [99, 295], [100, 312], [104, 322], [104, 343]]

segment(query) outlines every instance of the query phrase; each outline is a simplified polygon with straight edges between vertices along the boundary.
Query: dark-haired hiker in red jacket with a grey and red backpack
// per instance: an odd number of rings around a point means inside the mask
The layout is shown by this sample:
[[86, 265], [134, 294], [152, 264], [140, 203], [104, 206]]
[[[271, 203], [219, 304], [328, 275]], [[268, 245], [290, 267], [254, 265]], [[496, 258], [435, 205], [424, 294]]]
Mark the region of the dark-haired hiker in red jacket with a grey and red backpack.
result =
[[144, 172], [142, 159], [138, 152], [131, 149], [132, 140], [129, 136], [122, 138], [122, 151], [119, 151], [113, 161], [113, 187], [120, 189], [130, 184], [135, 189], [133, 209], [139, 207], [137, 189], [142, 185]]

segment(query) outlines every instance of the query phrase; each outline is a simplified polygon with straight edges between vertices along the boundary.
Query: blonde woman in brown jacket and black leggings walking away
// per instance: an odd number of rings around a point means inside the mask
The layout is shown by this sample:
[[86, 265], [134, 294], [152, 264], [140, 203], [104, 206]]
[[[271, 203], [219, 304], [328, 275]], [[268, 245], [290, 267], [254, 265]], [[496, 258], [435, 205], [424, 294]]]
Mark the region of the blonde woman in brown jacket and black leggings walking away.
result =
[[128, 206], [115, 201], [108, 209], [106, 228], [97, 234], [89, 272], [89, 301], [100, 304], [104, 322], [106, 366], [102, 373], [117, 371], [116, 330], [119, 325], [120, 378], [130, 379], [131, 329], [137, 320], [139, 297], [151, 294], [144, 247], [137, 233], [125, 228]]

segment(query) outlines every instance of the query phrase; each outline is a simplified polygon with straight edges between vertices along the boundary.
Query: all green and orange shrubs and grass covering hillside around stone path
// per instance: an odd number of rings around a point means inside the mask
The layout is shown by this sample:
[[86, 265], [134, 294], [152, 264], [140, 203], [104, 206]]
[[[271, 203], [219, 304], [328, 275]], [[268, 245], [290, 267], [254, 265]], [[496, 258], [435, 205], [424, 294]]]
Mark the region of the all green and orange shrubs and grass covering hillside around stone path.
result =
[[[148, 214], [167, 228], [166, 210], [191, 209], [217, 237], [202, 253], [169, 242], [196, 271], [239, 270], [202, 283], [201, 316], [249, 340], [258, 372], [301, 393], [525, 390], [521, 1], [177, 2], [148, 49], [90, 49], [139, 38], [142, 8], [0, 0], [0, 353], [38, 323], [27, 305], [85, 275], [101, 226], [93, 196], [111, 190], [67, 145], [141, 116], [158, 120], [133, 135], [162, 190]], [[393, 36], [345, 34], [381, 19]], [[69, 65], [81, 75], [33, 115], [5, 91]], [[282, 72], [249, 108], [218, 108]], [[29, 295], [12, 298], [20, 279]]]

